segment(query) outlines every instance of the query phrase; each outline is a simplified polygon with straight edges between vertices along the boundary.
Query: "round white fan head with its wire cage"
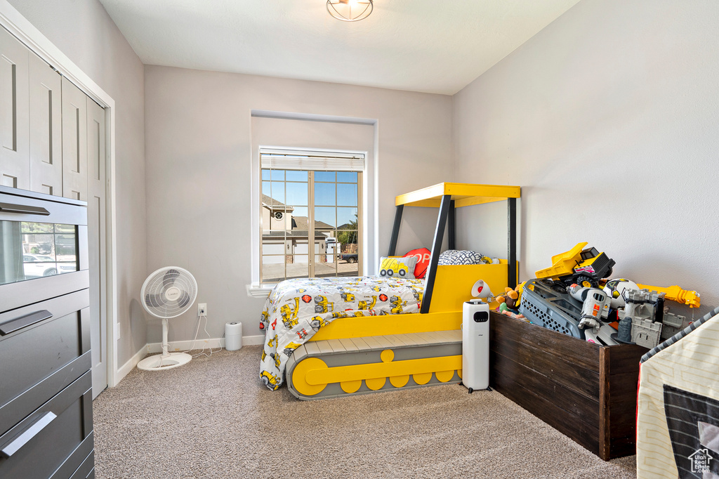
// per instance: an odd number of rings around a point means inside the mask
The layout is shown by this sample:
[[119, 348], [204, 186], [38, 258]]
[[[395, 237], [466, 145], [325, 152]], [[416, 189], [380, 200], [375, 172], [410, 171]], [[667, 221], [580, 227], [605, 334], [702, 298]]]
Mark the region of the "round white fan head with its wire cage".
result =
[[[170, 290], [177, 288], [177, 290]], [[170, 298], [168, 298], [168, 293]], [[173, 293], [177, 298], [173, 298]], [[197, 298], [197, 281], [186, 269], [177, 266], [160, 268], [147, 277], [142, 285], [142, 305], [157, 318], [180, 316], [192, 307]]]

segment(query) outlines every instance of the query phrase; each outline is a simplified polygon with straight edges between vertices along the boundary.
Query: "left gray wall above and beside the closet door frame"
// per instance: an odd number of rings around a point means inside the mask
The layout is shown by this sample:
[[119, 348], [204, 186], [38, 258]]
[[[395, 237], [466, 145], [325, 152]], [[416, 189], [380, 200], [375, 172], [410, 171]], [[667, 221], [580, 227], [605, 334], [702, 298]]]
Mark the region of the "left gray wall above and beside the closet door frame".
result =
[[119, 367], [147, 342], [137, 307], [147, 273], [144, 66], [99, 1], [9, 3], [115, 100]]

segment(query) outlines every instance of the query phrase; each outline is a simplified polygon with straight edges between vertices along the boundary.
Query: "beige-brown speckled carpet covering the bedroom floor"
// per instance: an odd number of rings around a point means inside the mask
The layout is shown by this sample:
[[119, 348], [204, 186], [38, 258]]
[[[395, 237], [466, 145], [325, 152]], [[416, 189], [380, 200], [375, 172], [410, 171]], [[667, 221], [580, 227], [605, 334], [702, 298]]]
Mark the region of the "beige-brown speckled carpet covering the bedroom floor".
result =
[[634, 478], [497, 392], [445, 385], [298, 401], [260, 347], [133, 370], [93, 402], [96, 477]]

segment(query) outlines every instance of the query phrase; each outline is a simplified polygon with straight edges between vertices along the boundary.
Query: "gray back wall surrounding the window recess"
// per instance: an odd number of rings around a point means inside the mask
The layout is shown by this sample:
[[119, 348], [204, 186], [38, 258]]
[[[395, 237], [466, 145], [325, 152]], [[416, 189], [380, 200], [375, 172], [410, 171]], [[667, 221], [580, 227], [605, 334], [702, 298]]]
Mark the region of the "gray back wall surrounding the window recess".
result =
[[[452, 179], [450, 96], [146, 65], [148, 270], [178, 265], [195, 275], [211, 337], [230, 320], [260, 334], [264, 300], [245, 293], [252, 110], [376, 120], [380, 252], [394, 196]], [[428, 212], [408, 214], [398, 250], [431, 242]], [[196, 311], [170, 321], [170, 341], [192, 339], [196, 321]], [[159, 325], [149, 328], [148, 342], [159, 342]]]

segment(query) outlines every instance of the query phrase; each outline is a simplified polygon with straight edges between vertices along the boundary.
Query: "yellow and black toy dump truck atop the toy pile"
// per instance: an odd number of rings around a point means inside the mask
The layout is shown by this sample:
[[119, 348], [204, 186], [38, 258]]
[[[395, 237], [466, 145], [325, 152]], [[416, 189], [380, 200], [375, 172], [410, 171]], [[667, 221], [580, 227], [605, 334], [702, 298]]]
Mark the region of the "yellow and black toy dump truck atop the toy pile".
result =
[[551, 267], [536, 272], [537, 278], [552, 278], [570, 285], [577, 283], [585, 288], [596, 288], [599, 280], [608, 278], [615, 265], [613, 259], [597, 248], [578, 243], [567, 252], [551, 257]]

